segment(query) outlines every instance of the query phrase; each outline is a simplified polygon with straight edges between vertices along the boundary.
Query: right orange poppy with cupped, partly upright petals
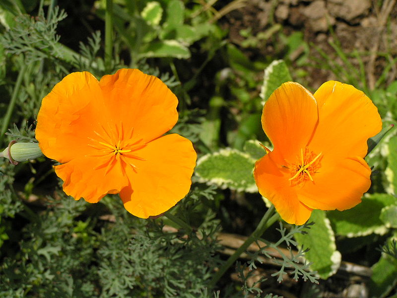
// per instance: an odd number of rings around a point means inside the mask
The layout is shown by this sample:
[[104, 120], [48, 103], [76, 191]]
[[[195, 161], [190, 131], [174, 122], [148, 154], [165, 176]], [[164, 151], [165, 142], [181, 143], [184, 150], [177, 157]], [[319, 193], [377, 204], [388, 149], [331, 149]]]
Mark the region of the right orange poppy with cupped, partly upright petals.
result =
[[289, 224], [304, 224], [313, 209], [345, 210], [370, 185], [367, 140], [382, 129], [372, 101], [351, 85], [324, 83], [315, 93], [295, 82], [265, 103], [262, 127], [273, 151], [255, 164], [259, 192]]

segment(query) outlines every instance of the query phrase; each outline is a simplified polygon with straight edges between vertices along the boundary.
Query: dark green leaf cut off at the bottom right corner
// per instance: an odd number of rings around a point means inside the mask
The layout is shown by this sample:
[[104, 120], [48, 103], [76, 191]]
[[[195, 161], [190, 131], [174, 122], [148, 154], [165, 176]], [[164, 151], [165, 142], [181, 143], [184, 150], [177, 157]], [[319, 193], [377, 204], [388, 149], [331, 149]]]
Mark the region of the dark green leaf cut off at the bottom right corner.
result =
[[372, 276], [369, 282], [369, 297], [387, 297], [397, 285], [397, 260], [385, 253], [372, 266]]

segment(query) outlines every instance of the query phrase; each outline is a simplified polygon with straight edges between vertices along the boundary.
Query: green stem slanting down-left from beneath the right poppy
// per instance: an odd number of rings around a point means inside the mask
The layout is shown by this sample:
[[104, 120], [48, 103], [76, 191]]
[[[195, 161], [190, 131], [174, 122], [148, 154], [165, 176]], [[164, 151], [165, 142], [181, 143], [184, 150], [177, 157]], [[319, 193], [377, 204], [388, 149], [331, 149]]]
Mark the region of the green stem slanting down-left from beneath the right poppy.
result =
[[218, 280], [223, 276], [227, 269], [240, 257], [240, 255], [247, 250], [247, 248], [256, 241], [265, 230], [273, 224], [279, 217], [278, 214], [274, 214], [274, 206], [272, 205], [265, 213], [264, 217], [262, 218], [261, 222], [258, 224], [255, 231], [245, 240], [245, 242], [232, 254], [227, 261], [222, 265], [218, 272], [212, 277], [211, 281], [208, 284], [209, 289], [213, 289], [218, 282]]

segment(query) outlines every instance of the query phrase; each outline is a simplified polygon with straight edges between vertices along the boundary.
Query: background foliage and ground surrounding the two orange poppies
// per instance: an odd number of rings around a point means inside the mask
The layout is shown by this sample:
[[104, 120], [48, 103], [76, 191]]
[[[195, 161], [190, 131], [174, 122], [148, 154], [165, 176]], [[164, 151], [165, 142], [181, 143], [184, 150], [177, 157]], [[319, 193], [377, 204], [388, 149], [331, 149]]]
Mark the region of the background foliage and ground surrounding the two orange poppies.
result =
[[[260, 117], [274, 88], [337, 79], [374, 101], [385, 128], [396, 123], [396, 1], [363, 1], [356, 16], [323, 0], [110, 2], [0, 0], [0, 142], [35, 142], [41, 99], [66, 74], [159, 76], [179, 99], [173, 131], [199, 154], [192, 190], [171, 212], [193, 229], [134, 218], [117, 196], [74, 201], [44, 157], [4, 159], [0, 297], [397, 297], [395, 130], [367, 157], [373, 184], [361, 204], [314, 212], [302, 227], [273, 224], [209, 287], [267, 210], [252, 169], [259, 142], [269, 145]], [[352, 26], [372, 28], [370, 44]]]

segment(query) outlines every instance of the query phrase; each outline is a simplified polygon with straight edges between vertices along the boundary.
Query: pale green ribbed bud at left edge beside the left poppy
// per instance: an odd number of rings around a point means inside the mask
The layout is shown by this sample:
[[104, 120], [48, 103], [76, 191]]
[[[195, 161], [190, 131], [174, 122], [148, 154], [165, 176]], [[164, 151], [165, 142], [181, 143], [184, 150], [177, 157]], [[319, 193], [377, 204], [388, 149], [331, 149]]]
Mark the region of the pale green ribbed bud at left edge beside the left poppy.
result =
[[38, 143], [16, 143], [12, 141], [1, 153], [1, 157], [7, 158], [12, 164], [19, 161], [36, 159], [44, 154], [41, 152]]

